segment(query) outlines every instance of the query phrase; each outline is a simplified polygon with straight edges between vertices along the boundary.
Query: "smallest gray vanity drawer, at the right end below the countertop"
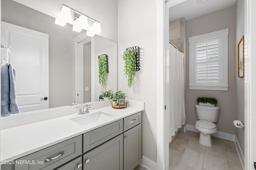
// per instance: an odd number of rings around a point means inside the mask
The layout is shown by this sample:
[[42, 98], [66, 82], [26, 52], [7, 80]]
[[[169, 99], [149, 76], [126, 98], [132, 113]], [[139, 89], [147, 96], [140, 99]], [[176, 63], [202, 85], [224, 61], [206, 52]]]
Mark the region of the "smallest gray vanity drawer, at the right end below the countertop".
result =
[[124, 118], [124, 131], [141, 123], [141, 112]]

